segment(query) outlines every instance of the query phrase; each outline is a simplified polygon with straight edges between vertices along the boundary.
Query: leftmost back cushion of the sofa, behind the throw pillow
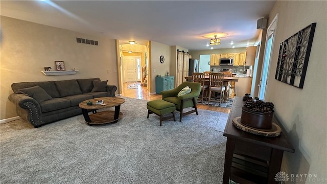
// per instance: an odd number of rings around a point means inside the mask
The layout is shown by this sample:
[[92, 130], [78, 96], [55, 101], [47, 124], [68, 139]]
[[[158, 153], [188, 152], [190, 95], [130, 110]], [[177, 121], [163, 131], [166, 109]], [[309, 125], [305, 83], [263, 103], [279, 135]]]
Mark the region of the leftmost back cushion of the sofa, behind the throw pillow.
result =
[[11, 84], [11, 88], [15, 94], [21, 93], [19, 90], [27, 87], [33, 86], [42, 87], [47, 94], [49, 94], [52, 98], [60, 97], [60, 94], [56, 88], [54, 81], [45, 81], [45, 82], [17, 82]]

